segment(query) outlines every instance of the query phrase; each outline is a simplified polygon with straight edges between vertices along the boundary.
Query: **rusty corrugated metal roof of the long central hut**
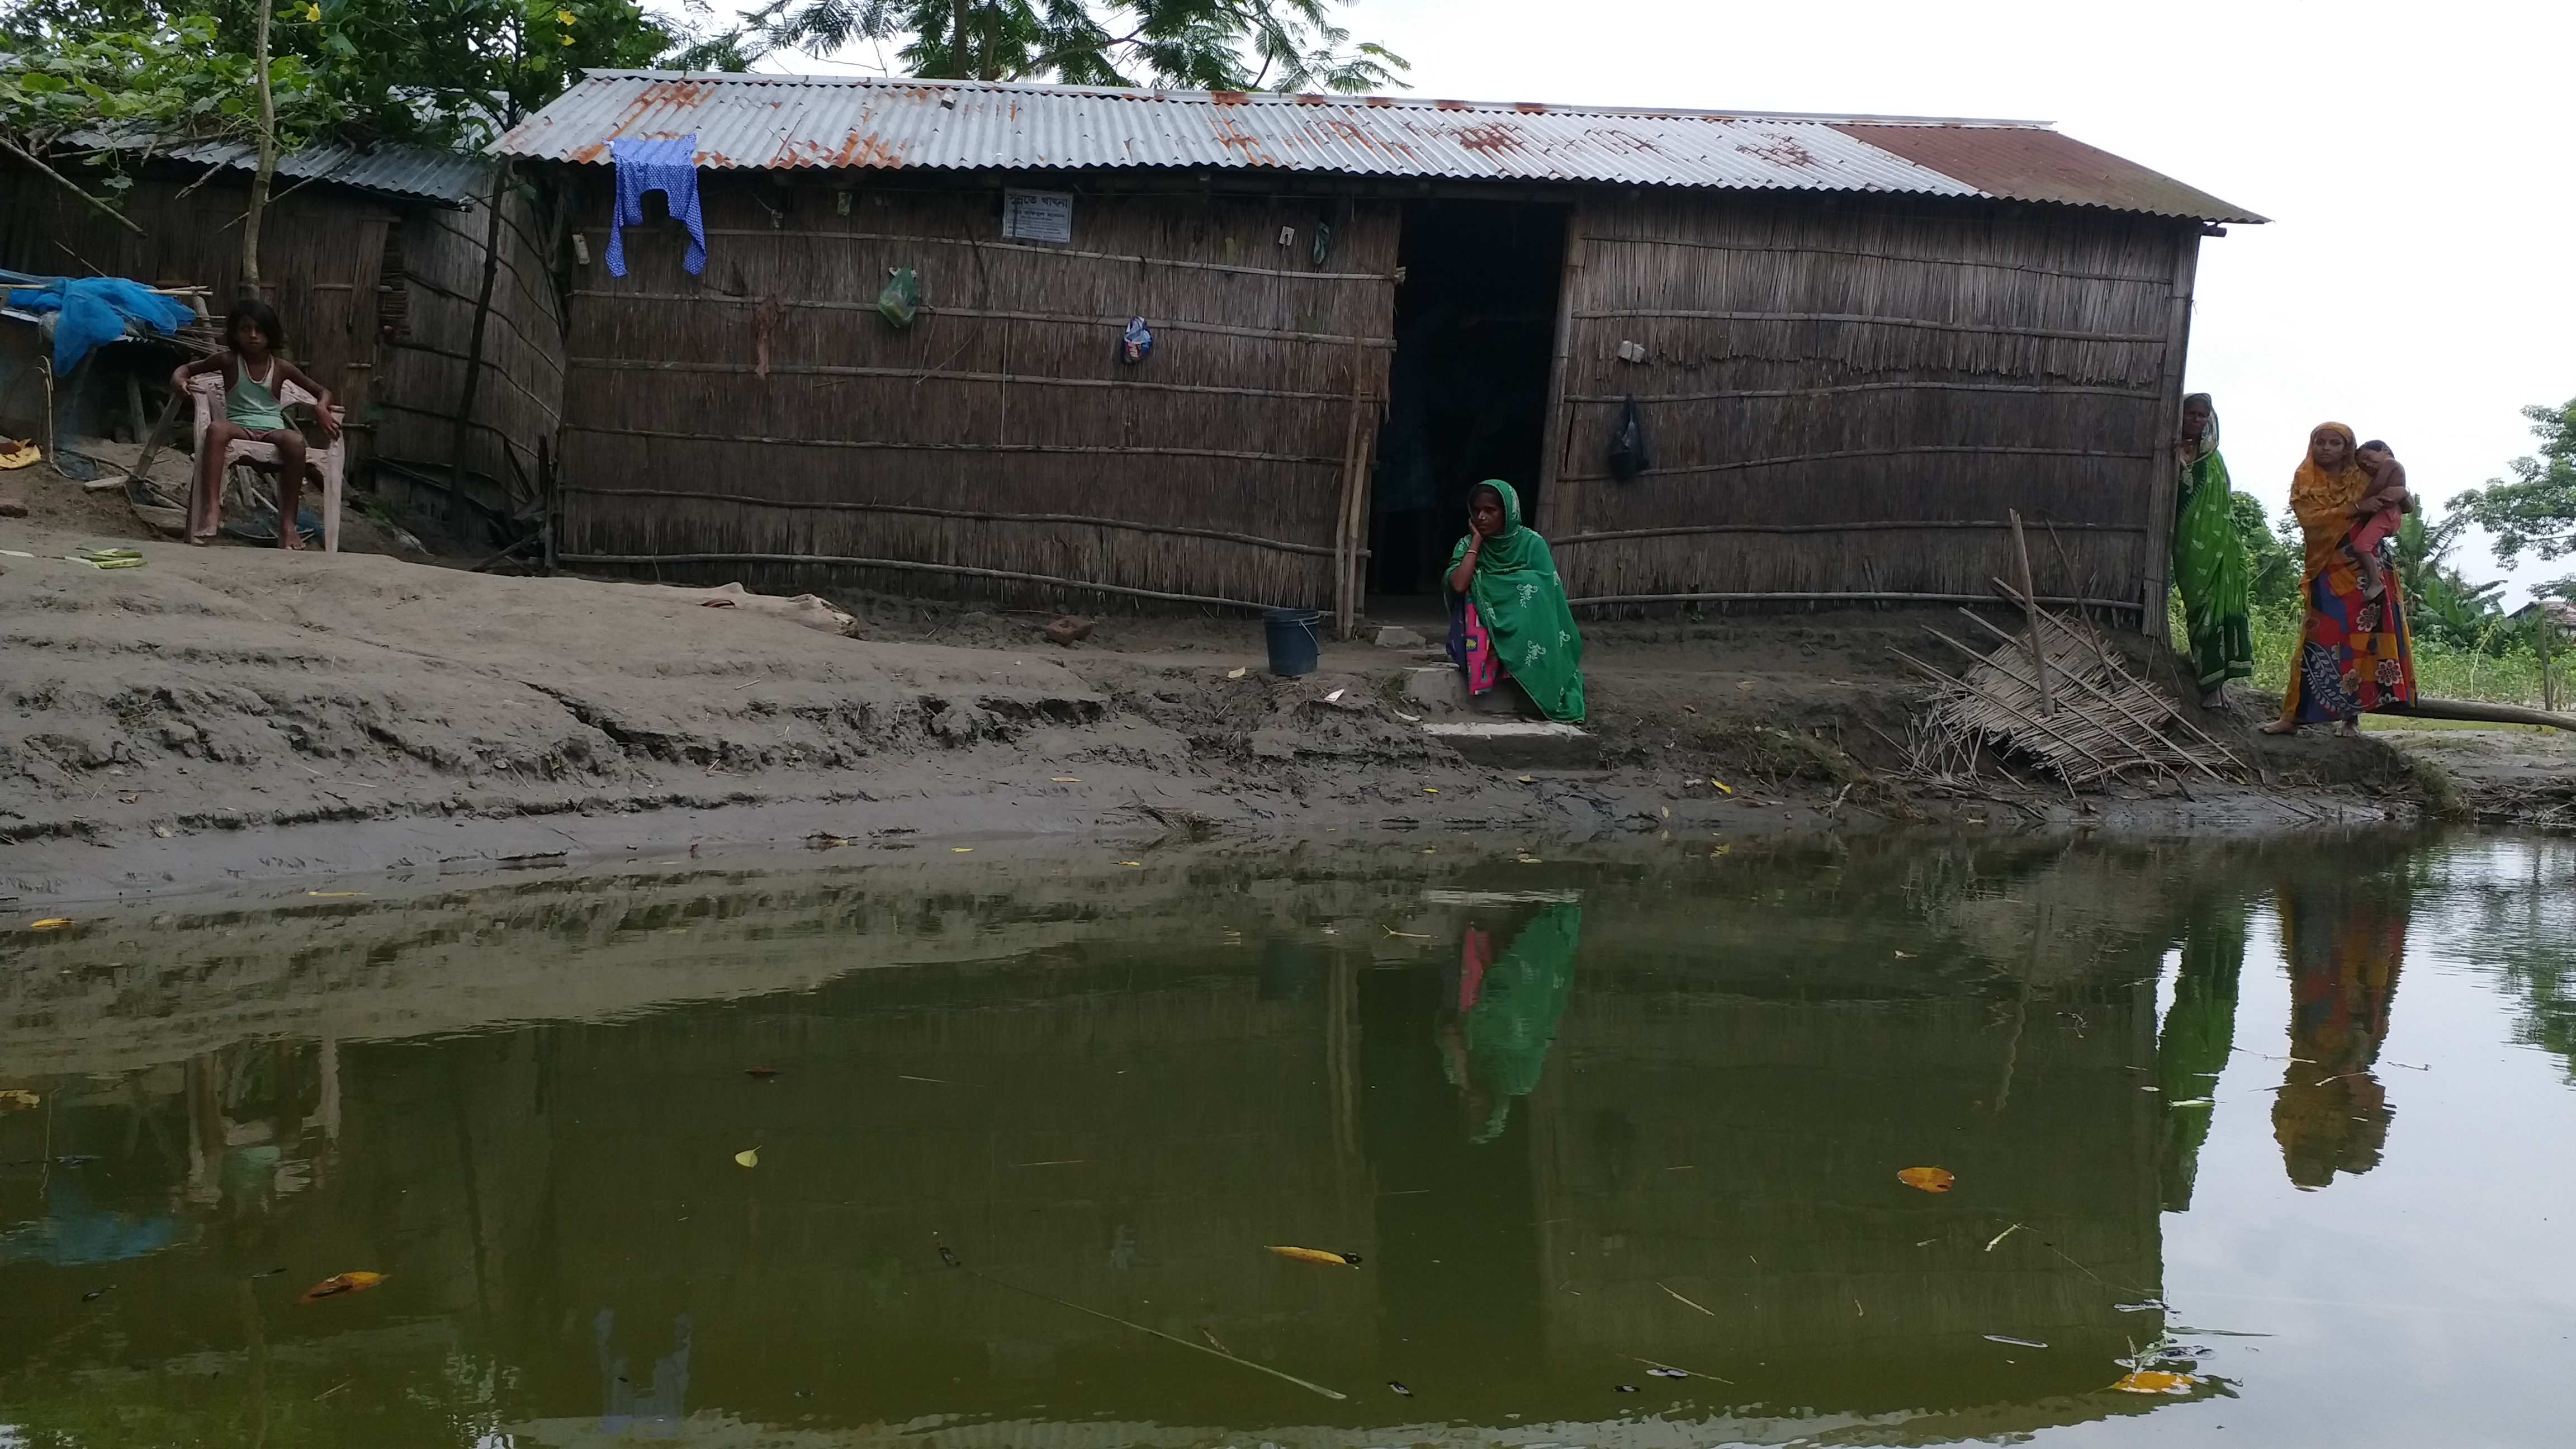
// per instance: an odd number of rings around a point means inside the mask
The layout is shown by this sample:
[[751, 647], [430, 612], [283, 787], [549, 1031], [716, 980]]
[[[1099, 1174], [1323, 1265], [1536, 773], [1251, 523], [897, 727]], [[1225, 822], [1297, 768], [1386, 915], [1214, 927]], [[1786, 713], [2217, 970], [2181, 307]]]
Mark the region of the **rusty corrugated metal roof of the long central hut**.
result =
[[[1224, 168], [1893, 191], [2259, 222], [2239, 206], [2035, 121], [1631, 111], [1533, 101], [598, 70], [492, 150], [605, 162], [613, 139], [688, 134], [698, 137], [698, 165], [708, 168]], [[1953, 137], [1950, 150], [1924, 144], [1927, 134]]]

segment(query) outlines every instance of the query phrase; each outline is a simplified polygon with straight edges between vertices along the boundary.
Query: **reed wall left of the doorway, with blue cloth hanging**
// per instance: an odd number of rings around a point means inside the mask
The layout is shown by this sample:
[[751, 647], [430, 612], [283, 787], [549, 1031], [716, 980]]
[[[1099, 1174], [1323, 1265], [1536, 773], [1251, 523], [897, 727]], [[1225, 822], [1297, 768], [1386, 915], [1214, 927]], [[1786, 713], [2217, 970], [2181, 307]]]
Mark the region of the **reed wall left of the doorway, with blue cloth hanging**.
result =
[[[1002, 240], [999, 180], [701, 173], [706, 273], [652, 222], [611, 278], [608, 178], [577, 186], [567, 565], [1334, 601], [1391, 345], [1391, 204], [1036, 180], [1079, 193], [1072, 242], [1041, 245]], [[896, 266], [927, 302], [909, 330], [873, 312]], [[1115, 361], [1128, 317], [1154, 327], [1144, 366]]]

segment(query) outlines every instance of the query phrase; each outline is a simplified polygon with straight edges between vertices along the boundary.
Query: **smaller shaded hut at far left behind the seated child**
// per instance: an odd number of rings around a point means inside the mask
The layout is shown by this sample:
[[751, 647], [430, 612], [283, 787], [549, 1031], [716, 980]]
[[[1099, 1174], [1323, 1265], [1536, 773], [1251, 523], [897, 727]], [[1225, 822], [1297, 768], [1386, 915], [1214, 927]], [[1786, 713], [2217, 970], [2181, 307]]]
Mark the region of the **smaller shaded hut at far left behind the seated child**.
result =
[[[131, 224], [5, 162], [0, 266], [198, 286], [222, 315], [245, 291], [240, 227], [252, 162], [237, 142], [129, 160], [137, 175], [121, 214]], [[319, 144], [278, 160], [260, 227], [260, 294], [286, 320], [289, 356], [348, 407], [355, 472], [374, 469], [397, 490], [443, 490], [461, 469], [461, 492], [484, 513], [536, 513], [562, 410], [562, 299], [546, 263], [559, 250], [554, 224], [484, 157]], [[469, 369], [477, 343], [482, 364]], [[67, 394], [77, 387], [64, 379]], [[137, 392], [157, 397], [162, 379], [139, 376]], [[21, 394], [33, 392], [8, 392]], [[121, 407], [88, 413], [142, 431]]]

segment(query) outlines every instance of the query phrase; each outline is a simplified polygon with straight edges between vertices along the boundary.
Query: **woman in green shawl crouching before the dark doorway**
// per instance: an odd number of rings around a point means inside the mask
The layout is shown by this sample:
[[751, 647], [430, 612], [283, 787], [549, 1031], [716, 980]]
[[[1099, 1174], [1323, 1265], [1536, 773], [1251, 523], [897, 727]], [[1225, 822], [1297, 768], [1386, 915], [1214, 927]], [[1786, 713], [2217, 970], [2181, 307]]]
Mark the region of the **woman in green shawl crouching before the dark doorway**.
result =
[[1520, 523], [1520, 495], [1489, 477], [1468, 492], [1466, 539], [1450, 549], [1450, 657], [1468, 694], [1520, 681], [1548, 719], [1584, 719], [1584, 637], [1566, 608], [1548, 541]]

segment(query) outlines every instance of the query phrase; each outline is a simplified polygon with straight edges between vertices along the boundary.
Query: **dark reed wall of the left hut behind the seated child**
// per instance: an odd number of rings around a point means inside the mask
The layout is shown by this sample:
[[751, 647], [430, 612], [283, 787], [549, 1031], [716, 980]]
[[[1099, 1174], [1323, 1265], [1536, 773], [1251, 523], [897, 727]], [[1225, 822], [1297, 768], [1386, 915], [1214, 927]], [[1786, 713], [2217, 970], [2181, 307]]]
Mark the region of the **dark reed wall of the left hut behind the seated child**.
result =
[[[0, 165], [0, 266], [206, 286], [222, 315], [242, 294], [247, 206], [247, 175], [201, 186], [147, 175], [124, 201], [142, 227], [134, 235], [26, 165]], [[350, 402], [363, 402], [376, 358], [376, 271], [392, 219], [392, 206], [353, 191], [278, 186], [260, 222], [260, 291], [286, 322], [286, 356]]]

